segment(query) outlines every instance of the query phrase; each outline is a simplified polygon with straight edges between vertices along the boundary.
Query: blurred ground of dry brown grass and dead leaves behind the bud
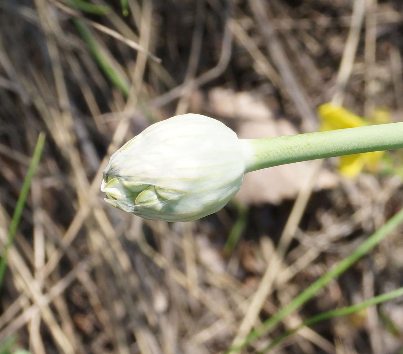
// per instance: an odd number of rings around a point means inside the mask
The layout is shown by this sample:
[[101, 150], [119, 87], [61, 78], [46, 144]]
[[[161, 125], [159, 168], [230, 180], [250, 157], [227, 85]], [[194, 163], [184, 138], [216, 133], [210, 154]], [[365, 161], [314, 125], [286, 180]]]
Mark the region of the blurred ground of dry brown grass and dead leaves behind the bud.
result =
[[[99, 188], [116, 149], [175, 114], [242, 139], [318, 130], [329, 101], [366, 124], [402, 121], [402, 11], [400, 0], [0, 0], [1, 246], [46, 132], [0, 292], [1, 353], [223, 352], [380, 228], [402, 207], [396, 151], [350, 176], [338, 159], [251, 172], [224, 209], [188, 223], [124, 213]], [[243, 352], [403, 286], [401, 236]], [[272, 353], [402, 350], [393, 300]]]

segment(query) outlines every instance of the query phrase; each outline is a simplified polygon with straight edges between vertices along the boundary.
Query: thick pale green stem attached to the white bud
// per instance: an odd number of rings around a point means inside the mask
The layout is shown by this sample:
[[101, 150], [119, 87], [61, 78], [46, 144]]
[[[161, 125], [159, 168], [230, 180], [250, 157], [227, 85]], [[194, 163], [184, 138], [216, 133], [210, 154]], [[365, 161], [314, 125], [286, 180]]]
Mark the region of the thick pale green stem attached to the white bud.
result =
[[403, 148], [403, 122], [241, 140], [246, 172], [292, 162]]

